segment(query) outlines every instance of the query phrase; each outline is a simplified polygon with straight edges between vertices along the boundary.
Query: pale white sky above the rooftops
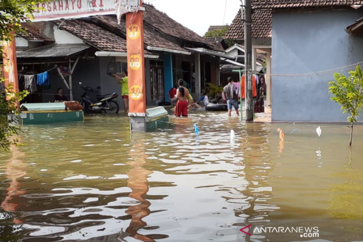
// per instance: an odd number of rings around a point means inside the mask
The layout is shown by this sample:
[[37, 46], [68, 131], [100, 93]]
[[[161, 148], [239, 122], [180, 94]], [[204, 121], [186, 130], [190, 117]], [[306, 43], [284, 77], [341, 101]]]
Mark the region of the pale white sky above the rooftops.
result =
[[144, 0], [144, 2], [166, 12], [169, 17], [201, 36], [207, 32], [209, 25], [231, 24], [241, 5], [240, 0]]

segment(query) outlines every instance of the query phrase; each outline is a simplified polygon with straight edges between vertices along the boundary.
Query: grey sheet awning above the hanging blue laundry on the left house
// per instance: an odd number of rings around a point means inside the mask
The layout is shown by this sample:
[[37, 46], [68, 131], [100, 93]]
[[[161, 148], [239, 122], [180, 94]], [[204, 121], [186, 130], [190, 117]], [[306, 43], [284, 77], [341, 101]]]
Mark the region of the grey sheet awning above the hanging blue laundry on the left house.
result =
[[91, 48], [91, 46], [87, 44], [44, 45], [28, 50], [19, 51], [16, 53], [16, 57], [20, 59], [70, 57], [75, 54], [84, 52], [89, 48]]

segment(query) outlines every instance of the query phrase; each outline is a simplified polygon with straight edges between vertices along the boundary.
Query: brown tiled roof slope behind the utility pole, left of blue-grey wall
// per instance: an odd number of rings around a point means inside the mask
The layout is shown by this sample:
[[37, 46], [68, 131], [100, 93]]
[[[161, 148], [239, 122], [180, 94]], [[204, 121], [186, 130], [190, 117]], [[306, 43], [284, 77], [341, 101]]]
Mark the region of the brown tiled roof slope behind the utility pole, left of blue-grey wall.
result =
[[[270, 9], [253, 9], [252, 38], [272, 36], [272, 11]], [[241, 20], [241, 9], [238, 11], [224, 39], [244, 40], [244, 24]]]

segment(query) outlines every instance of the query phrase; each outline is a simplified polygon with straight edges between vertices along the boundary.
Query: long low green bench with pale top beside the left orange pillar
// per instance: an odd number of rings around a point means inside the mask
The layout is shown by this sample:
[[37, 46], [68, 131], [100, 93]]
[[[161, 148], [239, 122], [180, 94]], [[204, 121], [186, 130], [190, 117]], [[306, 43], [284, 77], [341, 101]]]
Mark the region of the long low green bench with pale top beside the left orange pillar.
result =
[[23, 103], [20, 107], [27, 110], [20, 113], [22, 125], [83, 121], [83, 111], [66, 111], [65, 103]]

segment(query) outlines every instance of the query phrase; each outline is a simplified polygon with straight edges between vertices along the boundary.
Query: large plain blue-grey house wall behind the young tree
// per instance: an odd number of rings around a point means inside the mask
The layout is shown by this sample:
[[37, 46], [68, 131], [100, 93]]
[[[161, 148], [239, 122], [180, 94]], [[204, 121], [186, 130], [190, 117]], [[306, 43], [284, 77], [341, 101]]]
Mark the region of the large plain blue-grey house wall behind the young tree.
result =
[[[356, 10], [273, 13], [272, 73], [329, 70], [363, 60], [363, 38], [345, 28], [362, 17]], [[354, 69], [354, 68], [353, 68]], [[339, 70], [347, 73], [348, 70]], [[330, 100], [328, 82], [334, 71], [305, 77], [272, 77], [273, 121], [345, 121]]]

